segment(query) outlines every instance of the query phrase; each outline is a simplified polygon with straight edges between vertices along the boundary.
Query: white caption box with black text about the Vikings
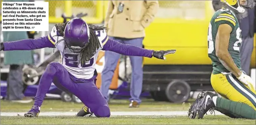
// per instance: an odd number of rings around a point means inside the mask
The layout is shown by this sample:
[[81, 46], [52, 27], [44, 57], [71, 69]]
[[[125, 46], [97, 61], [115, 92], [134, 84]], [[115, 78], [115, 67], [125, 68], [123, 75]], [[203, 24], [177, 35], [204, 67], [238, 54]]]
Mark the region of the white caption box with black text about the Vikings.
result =
[[48, 2], [2, 2], [2, 31], [49, 31]]

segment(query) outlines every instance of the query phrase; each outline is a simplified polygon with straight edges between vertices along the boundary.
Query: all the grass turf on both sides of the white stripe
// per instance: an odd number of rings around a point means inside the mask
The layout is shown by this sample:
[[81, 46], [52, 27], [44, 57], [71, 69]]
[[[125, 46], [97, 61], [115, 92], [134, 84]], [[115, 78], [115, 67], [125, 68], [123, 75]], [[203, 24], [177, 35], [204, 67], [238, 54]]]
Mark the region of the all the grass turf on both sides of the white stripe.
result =
[[[140, 108], [128, 108], [128, 100], [111, 100], [109, 103], [111, 112], [140, 112], [140, 111], [188, 111], [192, 102], [183, 104], [173, 104], [169, 102], [155, 102], [153, 100], [143, 100]], [[26, 112], [30, 110], [33, 103], [19, 104], [1, 100], [1, 112]], [[83, 104], [73, 102], [62, 102], [60, 100], [45, 100], [41, 107], [41, 112], [77, 112]], [[74, 116], [40, 116], [38, 118], [25, 118], [21, 116], [1, 116], [0, 124], [27, 124], [27, 125], [46, 125], [46, 124], [237, 124], [237, 125], [255, 125], [255, 120], [231, 119], [224, 115], [205, 115], [204, 119], [189, 119], [187, 116], [111, 116], [110, 118], [96, 117], [74, 117]]]

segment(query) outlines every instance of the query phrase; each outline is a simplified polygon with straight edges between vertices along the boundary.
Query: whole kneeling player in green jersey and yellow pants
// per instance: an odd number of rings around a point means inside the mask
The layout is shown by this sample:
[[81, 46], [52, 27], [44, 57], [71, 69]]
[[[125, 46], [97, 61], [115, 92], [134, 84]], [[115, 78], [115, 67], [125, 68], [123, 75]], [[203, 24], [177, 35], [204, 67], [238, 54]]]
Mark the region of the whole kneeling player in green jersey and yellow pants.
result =
[[[208, 56], [212, 61], [211, 85], [217, 94], [201, 91], [189, 117], [202, 119], [208, 110], [231, 118], [256, 119], [256, 91], [252, 78], [241, 69], [241, 30], [235, 13], [252, 8], [251, 0], [221, 0], [229, 7], [216, 11], [208, 28]], [[236, 12], [235, 12], [236, 11]]]

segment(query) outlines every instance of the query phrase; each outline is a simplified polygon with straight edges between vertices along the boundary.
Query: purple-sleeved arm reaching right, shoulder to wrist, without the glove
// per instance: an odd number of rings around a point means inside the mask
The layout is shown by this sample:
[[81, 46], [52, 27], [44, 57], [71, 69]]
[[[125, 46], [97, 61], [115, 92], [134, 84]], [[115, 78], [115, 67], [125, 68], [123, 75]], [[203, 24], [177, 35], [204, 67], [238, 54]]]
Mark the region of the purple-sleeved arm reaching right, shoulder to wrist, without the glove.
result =
[[122, 55], [142, 56], [149, 58], [153, 56], [154, 52], [153, 50], [143, 49], [128, 44], [122, 44], [112, 39], [108, 39], [106, 42], [103, 42], [102, 50], [113, 51]]

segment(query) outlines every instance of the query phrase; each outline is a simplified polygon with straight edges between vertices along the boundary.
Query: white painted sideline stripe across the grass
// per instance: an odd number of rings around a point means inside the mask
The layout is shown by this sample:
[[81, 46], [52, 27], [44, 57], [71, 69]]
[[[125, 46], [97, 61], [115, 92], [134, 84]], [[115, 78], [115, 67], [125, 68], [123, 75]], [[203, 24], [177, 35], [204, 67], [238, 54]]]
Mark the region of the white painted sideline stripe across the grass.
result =
[[[0, 112], [0, 116], [23, 116], [25, 112]], [[39, 116], [75, 116], [77, 112], [40, 112]], [[210, 115], [210, 112], [207, 112]], [[215, 111], [216, 115], [222, 115]], [[188, 116], [187, 111], [111, 112], [111, 116]], [[211, 114], [214, 115], [214, 114]]]

